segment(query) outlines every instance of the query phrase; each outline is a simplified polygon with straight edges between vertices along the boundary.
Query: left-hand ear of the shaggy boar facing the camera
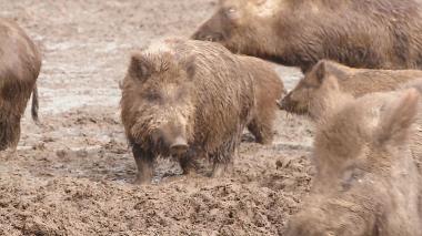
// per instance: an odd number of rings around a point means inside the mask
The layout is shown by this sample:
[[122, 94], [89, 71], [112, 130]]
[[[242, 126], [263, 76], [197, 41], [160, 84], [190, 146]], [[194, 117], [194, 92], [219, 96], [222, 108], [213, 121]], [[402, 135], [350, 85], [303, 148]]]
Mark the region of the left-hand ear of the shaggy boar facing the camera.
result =
[[143, 54], [134, 53], [132, 54], [129, 73], [139, 79], [140, 81], [147, 80], [153, 73], [153, 64], [151, 61]]

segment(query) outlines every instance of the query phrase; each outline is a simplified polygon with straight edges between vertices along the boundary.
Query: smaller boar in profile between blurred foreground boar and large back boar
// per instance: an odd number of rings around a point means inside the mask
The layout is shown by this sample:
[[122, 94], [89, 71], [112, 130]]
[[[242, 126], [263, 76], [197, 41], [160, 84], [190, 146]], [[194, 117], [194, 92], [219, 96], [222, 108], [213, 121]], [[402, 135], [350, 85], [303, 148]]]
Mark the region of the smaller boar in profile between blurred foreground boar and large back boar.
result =
[[[323, 81], [332, 76], [342, 92], [355, 98], [373, 92], [399, 89], [409, 81], [422, 78], [419, 70], [353, 69], [336, 62], [321, 60], [305, 73], [298, 85], [280, 102], [280, 107], [295, 114], [308, 114], [309, 106], [324, 99], [328, 86]], [[325, 98], [326, 99], [326, 98]]]

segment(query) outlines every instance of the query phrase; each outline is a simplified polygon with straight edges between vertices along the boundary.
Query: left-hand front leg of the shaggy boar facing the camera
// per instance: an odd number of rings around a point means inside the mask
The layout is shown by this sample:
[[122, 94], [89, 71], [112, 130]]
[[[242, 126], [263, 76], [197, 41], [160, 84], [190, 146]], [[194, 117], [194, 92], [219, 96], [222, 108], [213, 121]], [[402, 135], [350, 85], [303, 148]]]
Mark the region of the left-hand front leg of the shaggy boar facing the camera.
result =
[[153, 155], [142, 150], [138, 144], [132, 146], [133, 157], [138, 166], [137, 183], [147, 184], [152, 179]]

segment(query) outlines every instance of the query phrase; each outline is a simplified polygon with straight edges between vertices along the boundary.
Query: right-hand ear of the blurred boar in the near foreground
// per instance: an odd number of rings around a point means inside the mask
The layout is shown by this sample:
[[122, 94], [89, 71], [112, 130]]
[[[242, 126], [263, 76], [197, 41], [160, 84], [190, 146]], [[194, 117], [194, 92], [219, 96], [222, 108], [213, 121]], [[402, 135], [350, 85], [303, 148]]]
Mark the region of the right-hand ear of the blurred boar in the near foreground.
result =
[[379, 145], [402, 144], [408, 140], [409, 129], [418, 114], [419, 98], [419, 92], [410, 89], [388, 105], [375, 132], [375, 141]]

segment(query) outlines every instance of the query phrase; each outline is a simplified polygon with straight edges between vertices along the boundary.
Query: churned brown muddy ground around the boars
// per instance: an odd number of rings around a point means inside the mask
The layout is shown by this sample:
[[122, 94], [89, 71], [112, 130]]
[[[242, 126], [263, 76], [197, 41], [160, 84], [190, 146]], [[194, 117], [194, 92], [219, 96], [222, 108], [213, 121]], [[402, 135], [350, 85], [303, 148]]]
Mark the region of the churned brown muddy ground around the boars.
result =
[[[230, 178], [185, 177], [169, 160], [148, 186], [119, 117], [129, 54], [189, 35], [213, 0], [0, 0], [41, 47], [38, 127], [27, 114], [17, 158], [0, 158], [0, 235], [282, 235], [309, 191], [308, 121], [280, 112], [273, 145], [245, 135]], [[288, 88], [301, 75], [278, 68]]]

